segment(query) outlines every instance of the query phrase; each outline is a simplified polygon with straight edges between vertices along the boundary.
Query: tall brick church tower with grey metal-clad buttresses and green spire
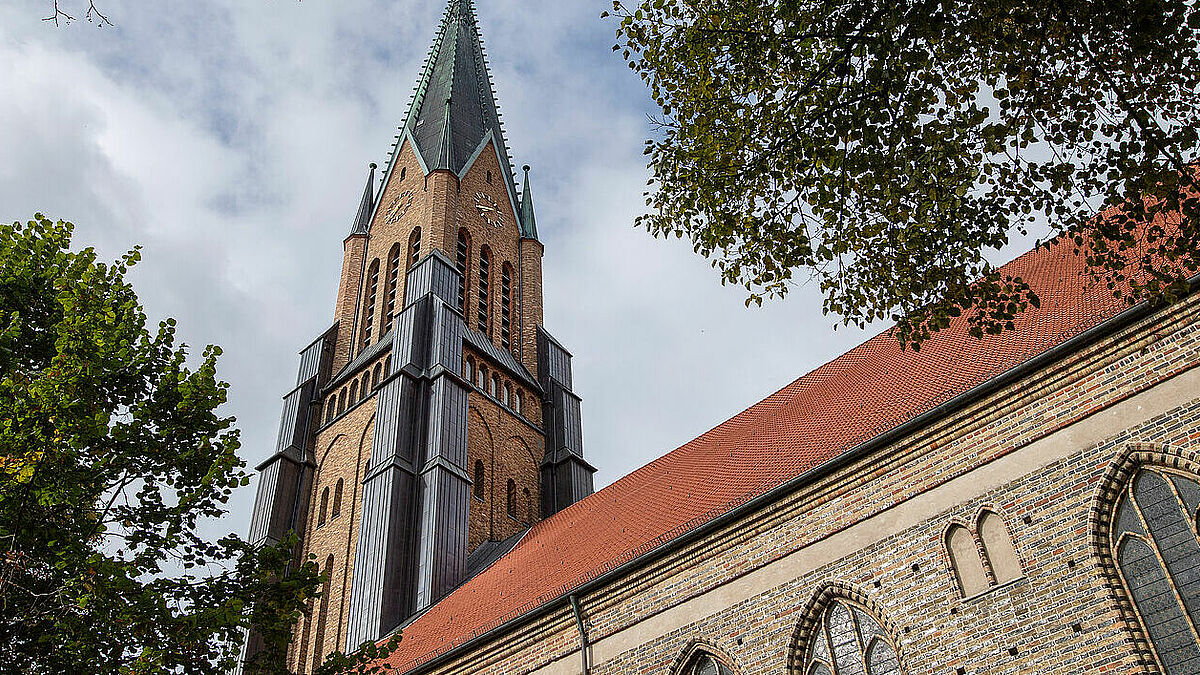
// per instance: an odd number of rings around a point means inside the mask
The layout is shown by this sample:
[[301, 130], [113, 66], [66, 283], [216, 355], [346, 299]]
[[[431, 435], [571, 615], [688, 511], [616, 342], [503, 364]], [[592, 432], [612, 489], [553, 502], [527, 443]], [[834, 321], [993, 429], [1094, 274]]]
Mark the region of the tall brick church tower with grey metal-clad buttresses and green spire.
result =
[[595, 471], [571, 356], [542, 327], [529, 167], [518, 190], [472, 0], [449, 1], [378, 191], [376, 171], [332, 325], [300, 353], [258, 466], [251, 539], [294, 530], [325, 574], [293, 637], [300, 673], [438, 602], [589, 495]]

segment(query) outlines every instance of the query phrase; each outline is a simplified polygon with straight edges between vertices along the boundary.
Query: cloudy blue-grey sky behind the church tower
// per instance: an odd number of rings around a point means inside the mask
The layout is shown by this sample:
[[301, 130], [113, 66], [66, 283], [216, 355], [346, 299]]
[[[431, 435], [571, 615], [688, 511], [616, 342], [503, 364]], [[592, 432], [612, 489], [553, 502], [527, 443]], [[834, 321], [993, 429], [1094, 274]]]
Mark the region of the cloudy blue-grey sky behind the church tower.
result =
[[[151, 317], [224, 348], [251, 465], [296, 352], [332, 321], [342, 238], [444, 0], [96, 0], [115, 24], [0, 6], [0, 219], [35, 211], [132, 275]], [[82, 14], [86, 0], [60, 0]], [[478, 0], [546, 244], [546, 324], [575, 354], [598, 486], [862, 341], [811, 287], [746, 309], [685, 241], [632, 227], [650, 101], [604, 0]], [[245, 532], [252, 488], [221, 525]]]

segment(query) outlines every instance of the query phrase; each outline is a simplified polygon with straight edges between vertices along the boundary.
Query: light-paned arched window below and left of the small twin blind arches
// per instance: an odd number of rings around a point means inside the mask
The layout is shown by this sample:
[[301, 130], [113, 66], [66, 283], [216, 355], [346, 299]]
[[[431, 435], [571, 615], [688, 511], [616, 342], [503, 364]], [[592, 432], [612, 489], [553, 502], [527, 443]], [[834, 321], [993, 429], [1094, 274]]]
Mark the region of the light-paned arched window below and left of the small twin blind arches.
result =
[[804, 659], [808, 675], [901, 675], [896, 647], [857, 603], [836, 598], [817, 622]]

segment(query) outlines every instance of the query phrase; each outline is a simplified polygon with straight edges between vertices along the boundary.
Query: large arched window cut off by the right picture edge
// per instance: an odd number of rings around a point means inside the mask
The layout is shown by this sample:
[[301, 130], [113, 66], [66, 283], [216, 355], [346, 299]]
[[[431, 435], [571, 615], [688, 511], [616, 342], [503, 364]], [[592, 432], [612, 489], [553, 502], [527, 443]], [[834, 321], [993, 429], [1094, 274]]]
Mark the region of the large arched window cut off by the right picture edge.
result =
[[1112, 560], [1166, 675], [1200, 671], [1200, 483], [1141, 468], [1111, 514]]

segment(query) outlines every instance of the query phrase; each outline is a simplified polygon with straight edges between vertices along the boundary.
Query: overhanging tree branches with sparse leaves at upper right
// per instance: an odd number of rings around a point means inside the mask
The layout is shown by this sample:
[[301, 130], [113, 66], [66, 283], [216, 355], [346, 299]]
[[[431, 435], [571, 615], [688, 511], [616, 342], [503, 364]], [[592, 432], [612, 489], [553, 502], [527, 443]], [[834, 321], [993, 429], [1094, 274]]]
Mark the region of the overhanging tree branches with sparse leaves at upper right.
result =
[[[608, 14], [608, 12], [605, 12]], [[989, 249], [1045, 227], [1130, 301], [1200, 251], [1192, 0], [644, 0], [618, 44], [661, 108], [638, 223], [746, 303], [816, 280], [901, 342], [1038, 303]], [[1182, 216], [1182, 217], [1180, 217]], [[1040, 229], [1039, 229], [1040, 233]]]

